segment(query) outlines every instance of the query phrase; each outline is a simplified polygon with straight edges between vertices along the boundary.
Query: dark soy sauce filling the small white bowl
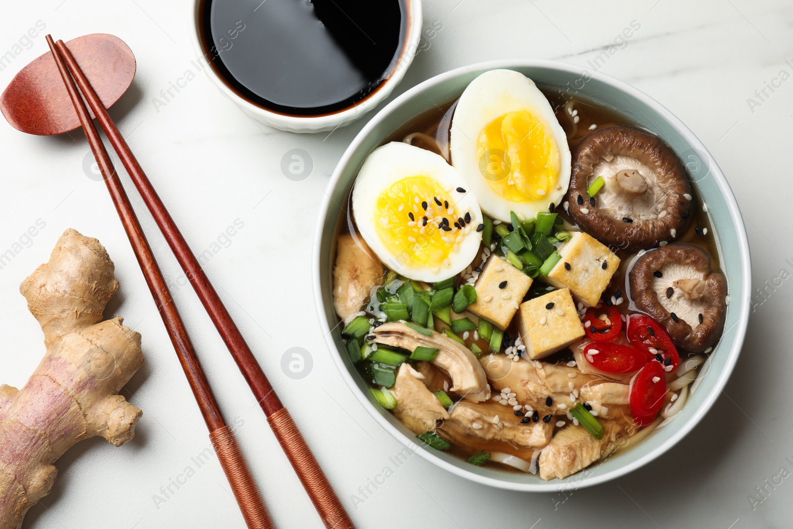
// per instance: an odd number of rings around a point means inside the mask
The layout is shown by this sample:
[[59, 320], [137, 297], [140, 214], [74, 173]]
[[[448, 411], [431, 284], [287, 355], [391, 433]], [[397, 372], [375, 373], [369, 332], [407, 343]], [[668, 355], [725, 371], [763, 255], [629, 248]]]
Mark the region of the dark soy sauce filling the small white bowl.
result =
[[312, 116], [366, 98], [397, 65], [405, 0], [205, 0], [202, 44], [240, 96]]

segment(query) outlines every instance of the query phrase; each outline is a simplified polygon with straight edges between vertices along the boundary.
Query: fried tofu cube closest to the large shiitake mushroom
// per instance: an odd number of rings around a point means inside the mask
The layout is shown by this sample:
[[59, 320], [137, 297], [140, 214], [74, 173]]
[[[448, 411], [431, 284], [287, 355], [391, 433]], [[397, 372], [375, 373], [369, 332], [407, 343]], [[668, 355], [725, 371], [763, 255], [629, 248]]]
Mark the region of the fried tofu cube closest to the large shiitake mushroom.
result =
[[550, 270], [546, 282], [557, 289], [570, 289], [587, 307], [597, 305], [619, 268], [619, 257], [584, 232], [574, 232], [558, 252], [561, 259]]

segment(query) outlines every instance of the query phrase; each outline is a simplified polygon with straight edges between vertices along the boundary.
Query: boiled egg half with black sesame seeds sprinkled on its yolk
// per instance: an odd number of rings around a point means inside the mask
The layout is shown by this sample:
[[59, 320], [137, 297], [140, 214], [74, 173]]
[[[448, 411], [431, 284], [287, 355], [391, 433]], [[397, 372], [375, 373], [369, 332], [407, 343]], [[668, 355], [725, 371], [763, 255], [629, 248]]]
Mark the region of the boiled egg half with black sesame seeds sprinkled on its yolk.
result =
[[462, 178], [434, 152], [392, 142], [366, 159], [352, 190], [355, 224], [391, 270], [437, 282], [465, 269], [482, 213]]

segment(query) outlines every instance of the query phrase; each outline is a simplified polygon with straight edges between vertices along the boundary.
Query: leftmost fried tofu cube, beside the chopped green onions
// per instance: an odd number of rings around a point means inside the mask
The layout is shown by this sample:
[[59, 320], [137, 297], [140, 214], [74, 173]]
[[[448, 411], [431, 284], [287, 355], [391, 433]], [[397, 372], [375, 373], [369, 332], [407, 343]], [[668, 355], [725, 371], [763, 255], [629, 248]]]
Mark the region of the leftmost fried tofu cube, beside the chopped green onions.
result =
[[[503, 286], [502, 286], [503, 285]], [[482, 273], [473, 286], [477, 301], [468, 310], [485, 318], [502, 331], [508, 327], [518, 310], [520, 301], [529, 291], [531, 278], [515, 266], [491, 254]]]

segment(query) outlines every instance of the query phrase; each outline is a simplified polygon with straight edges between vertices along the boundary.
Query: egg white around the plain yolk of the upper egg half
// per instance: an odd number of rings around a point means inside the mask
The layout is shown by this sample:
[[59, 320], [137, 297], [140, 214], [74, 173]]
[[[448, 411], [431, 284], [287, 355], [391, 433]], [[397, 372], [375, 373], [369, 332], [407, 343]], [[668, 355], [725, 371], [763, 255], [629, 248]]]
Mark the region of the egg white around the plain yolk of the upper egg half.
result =
[[[556, 140], [560, 156], [557, 186], [536, 201], [513, 202], [501, 197], [481, 174], [477, 158], [477, 140], [482, 129], [496, 118], [518, 110], [527, 110], [545, 123]], [[510, 211], [525, 219], [548, 211], [551, 204], [559, 204], [570, 183], [570, 149], [565, 131], [534, 81], [517, 71], [487, 71], [465, 88], [452, 118], [450, 150], [454, 168], [476, 194], [482, 211], [494, 219], [508, 222]]]

